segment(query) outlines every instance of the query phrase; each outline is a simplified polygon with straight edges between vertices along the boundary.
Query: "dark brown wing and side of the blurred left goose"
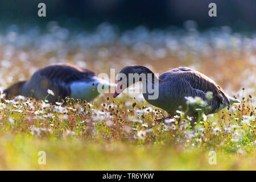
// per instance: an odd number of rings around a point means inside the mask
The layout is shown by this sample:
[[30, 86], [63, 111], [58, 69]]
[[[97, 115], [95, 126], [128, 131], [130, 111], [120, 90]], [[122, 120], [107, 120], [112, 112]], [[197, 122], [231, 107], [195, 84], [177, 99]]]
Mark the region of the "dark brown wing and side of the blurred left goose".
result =
[[47, 100], [55, 101], [57, 96], [71, 96], [72, 82], [90, 82], [93, 76], [95, 73], [88, 69], [71, 64], [53, 64], [36, 71], [27, 84], [27, 90], [33, 89], [34, 96], [43, 99], [47, 95], [47, 89], [51, 89], [55, 96], [49, 96]]

